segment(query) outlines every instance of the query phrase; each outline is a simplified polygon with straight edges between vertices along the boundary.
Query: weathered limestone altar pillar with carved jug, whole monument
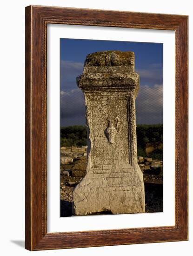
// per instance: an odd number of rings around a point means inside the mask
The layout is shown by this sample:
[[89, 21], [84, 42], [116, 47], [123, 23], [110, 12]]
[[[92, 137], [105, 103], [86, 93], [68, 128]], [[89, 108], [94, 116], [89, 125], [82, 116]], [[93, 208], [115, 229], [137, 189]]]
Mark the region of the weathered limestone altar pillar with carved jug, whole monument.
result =
[[143, 175], [137, 161], [134, 53], [87, 55], [77, 84], [85, 95], [87, 175], [73, 190], [73, 214], [143, 213]]

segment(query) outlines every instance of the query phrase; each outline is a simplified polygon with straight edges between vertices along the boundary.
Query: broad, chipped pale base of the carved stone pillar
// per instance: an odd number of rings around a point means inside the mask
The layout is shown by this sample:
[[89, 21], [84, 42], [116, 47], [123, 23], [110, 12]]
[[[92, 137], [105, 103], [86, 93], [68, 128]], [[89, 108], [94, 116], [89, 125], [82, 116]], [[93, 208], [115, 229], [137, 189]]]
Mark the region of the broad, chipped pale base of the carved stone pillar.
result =
[[[101, 166], [100, 166], [101, 168]], [[73, 191], [73, 215], [145, 212], [143, 174], [140, 167], [94, 168]]]

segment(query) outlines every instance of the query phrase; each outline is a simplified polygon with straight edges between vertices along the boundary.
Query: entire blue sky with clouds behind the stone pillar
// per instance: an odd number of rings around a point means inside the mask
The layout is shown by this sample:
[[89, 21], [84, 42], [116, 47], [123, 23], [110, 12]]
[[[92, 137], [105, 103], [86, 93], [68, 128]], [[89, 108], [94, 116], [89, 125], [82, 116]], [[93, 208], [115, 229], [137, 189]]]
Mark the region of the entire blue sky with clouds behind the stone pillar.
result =
[[84, 125], [85, 106], [76, 77], [82, 73], [87, 54], [133, 51], [135, 72], [140, 74], [136, 98], [137, 124], [162, 123], [163, 45], [107, 40], [60, 39], [60, 121], [61, 126]]

